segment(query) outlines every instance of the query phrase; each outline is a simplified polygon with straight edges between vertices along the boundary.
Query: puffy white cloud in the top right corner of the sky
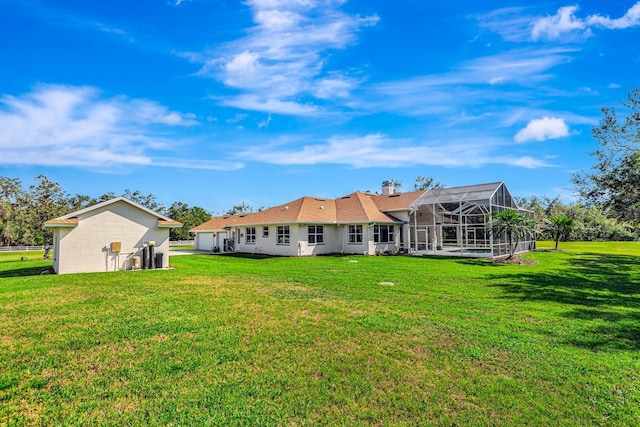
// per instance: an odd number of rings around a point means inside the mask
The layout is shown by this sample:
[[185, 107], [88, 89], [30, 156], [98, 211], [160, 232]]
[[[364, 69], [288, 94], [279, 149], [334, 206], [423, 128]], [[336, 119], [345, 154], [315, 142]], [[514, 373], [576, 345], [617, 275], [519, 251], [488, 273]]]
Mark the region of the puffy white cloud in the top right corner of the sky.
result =
[[617, 19], [597, 14], [583, 19], [576, 16], [578, 10], [577, 5], [563, 6], [558, 9], [555, 15], [534, 21], [531, 38], [533, 40], [554, 40], [563, 35], [582, 34], [588, 36], [593, 27], [619, 30], [640, 25], [640, 2], [636, 2], [621, 18]]

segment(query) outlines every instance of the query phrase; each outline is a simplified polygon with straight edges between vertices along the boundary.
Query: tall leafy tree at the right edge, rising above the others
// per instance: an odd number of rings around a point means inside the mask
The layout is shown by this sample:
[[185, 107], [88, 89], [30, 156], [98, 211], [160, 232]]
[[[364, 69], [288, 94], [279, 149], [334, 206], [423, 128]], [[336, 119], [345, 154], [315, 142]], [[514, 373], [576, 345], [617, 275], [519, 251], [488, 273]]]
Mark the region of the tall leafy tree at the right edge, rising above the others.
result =
[[591, 153], [596, 164], [589, 173], [572, 178], [582, 200], [602, 207], [616, 218], [640, 227], [640, 89], [623, 102], [626, 116], [603, 107], [600, 124], [592, 129], [599, 147]]

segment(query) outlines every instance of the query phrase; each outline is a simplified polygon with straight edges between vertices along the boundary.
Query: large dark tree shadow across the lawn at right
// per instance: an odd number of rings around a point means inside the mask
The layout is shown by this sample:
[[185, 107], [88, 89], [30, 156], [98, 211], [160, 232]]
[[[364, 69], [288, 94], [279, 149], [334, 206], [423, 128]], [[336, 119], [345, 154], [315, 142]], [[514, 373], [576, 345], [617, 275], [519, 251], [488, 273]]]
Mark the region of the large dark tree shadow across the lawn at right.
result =
[[576, 254], [559, 270], [491, 274], [506, 298], [564, 304], [562, 316], [582, 320], [568, 343], [589, 349], [640, 350], [640, 258]]

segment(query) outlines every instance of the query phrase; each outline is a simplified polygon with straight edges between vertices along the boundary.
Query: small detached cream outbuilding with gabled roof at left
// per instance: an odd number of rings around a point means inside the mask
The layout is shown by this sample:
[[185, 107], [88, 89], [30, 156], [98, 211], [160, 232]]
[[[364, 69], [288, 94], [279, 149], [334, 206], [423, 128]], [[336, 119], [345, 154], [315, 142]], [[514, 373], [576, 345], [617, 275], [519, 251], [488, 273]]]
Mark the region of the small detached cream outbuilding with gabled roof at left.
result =
[[66, 274], [144, 268], [143, 258], [148, 267], [162, 258], [162, 265], [156, 268], [167, 268], [169, 229], [182, 224], [117, 197], [44, 226], [53, 231], [53, 270]]

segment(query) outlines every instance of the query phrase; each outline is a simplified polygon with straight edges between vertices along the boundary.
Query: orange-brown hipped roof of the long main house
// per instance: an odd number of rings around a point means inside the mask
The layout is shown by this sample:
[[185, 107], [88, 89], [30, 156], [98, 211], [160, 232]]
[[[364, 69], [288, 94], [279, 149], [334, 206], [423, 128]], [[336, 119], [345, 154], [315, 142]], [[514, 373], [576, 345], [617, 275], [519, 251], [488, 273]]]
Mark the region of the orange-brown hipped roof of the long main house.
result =
[[339, 199], [301, 197], [260, 212], [212, 218], [190, 231], [220, 231], [226, 227], [260, 224], [398, 222], [391, 215], [381, 212], [371, 197], [360, 192]]

